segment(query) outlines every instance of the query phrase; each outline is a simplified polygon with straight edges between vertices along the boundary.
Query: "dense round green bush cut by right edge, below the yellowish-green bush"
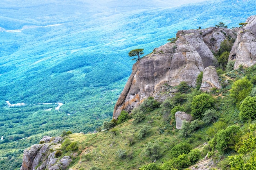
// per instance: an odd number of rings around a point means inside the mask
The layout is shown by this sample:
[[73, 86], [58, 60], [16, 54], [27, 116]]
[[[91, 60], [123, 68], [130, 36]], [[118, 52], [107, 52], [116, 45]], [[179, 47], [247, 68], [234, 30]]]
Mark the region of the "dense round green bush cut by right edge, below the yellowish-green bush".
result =
[[239, 118], [243, 121], [256, 119], [256, 97], [248, 96], [240, 105]]

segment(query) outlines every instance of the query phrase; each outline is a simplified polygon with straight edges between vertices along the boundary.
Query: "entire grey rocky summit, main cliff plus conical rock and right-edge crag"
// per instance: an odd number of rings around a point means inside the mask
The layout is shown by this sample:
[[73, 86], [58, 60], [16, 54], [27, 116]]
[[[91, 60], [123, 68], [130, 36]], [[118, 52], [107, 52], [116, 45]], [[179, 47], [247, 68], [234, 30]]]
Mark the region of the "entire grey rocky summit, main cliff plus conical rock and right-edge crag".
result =
[[[209, 66], [218, 66], [213, 53], [218, 52], [220, 44], [225, 39], [236, 39], [229, 55], [230, 60], [236, 60], [234, 69], [239, 65], [245, 67], [256, 63], [256, 15], [247, 19], [245, 31], [242, 28], [210, 27], [198, 30], [182, 30], [176, 34], [176, 41], [155, 48], [152, 53], [139, 59], [132, 67], [132, 73], [123, 92], [119, 96], [113, 111], [117, 119], [122, 110], [130, 112], [145, 98], [156, 97], [165, 90], [165, 86], [175, 87], [185, 81], [195, 86], [200, 72]], [[208, 71], [207, 71], [208, 70]], [[205, 70], [202, 89], [221, 88], [216, 80], [213, 67]], [[214, 82], [209, 77], [215, 77]], [[211, 79], [211, 78], [210, 78]], [[213, 79], [211, 79], [213, 80]]]

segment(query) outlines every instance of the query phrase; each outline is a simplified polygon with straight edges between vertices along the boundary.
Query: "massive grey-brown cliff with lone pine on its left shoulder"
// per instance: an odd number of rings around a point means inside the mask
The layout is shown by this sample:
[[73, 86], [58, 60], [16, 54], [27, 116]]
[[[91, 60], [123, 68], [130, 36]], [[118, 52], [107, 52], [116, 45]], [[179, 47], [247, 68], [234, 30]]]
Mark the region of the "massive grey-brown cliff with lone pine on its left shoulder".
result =
[[165, 85], [174, 87], [186, 81], [195, 86], [198, 74], [209, 65], [218, 65], [211, 51], [218, 51], [225, 38], [234, 37], [234, 31], [227, 28], [178, 31], [175, 43], [167, 43], [139, 61], [132, 67], [132, 74], [119, 96], [113, 118], [122, 110], [130, 112], [145, 98], [158, 96]]

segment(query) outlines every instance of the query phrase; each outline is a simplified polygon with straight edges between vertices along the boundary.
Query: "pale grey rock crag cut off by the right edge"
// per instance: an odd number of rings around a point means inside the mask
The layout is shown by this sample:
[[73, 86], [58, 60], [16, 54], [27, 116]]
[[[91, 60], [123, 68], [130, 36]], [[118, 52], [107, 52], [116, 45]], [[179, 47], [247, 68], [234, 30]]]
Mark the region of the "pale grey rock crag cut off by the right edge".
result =
[[256, 64], [256, 15], [249, 17], [246, 22], [245, 31], [240, 28], [229, 54], [229, 60], [236, 60], [234, 70], [239, 65], [249, 67]]

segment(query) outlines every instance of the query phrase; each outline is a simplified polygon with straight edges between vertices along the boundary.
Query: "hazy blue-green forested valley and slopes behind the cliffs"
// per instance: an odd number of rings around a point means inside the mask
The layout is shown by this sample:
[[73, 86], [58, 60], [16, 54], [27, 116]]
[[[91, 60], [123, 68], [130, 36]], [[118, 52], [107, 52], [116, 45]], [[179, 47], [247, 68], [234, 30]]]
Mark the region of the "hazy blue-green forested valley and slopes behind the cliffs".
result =
[[119, 13], [57, 2], [0, 2], [0, 167], [20, 167], [22, 151], [43, 135], [93, 132], [111, 120], [134, 62], [130, 50], [150, 53], [181, 29], [236, 27], [256, 10], [252, 0]]

